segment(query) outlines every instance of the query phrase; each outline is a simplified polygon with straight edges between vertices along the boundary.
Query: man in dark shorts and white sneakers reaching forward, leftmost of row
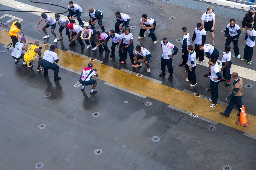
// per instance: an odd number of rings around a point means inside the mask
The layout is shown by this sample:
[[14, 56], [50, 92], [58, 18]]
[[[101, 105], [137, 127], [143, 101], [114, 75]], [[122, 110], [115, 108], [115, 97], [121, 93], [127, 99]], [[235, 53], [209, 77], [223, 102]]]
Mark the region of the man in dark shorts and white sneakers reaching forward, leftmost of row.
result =
[[39, 31], [40, 30], [43, 30], [45, 35], [44, 38], [49, 38], [50, 35], [47, 34], [47, 31], [45, 30], [46, 28], [50, 27], [51, 26], [51, 33], [52, 35], [55, 37], [55, 40], [54, 42], [56, 43], [58, 41], [58, 38], [56, 37], [56, 34], [54, 32], [55, 28], [56, 28], [56, 20], [51, 18], [51, 16], [49, 15], [46, 15], [45, 13], [42, 13], [41, 14], [41, 18], [39, 19], [38, 23], [37, 23], [37, 26], [35, 28], [38, 28], [38, 25], [40, 24], [40, 22], [42, 21], [42, 19], [44, 19], [45, 21], [45, 24], [42, 28], [39, 28]]

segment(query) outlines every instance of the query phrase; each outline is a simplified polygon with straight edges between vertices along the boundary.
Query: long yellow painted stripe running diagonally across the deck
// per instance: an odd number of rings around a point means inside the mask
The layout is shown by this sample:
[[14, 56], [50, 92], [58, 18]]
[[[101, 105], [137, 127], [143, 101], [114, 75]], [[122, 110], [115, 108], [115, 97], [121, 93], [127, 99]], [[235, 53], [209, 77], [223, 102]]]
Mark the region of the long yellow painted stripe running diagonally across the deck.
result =
[[[8, 33], [1, 31], [0, 43], [7, 45], [10, 41], [11, 39]], [[27, 42], [34, 43], [29, 39]], [[42, 53], [50, 48], [49, 45], [42, 45], [42, 47]], [[142, 79], [136, 75], [100, 64], [98, 62], [90, 61], [86, 58], [62, 51], [60, 49], [55, 49], [55, 52], [58, 54], [58, 64], [62, 66], [81, 72], [84, 67], [87, 67], [88, 62], [92, 62], [93, 67], [97, 68], [97, 73], [99, 74], [98, 79], [135, 91], [136, 93], [165, 102], [180, 109], [197, 113], [200, 116], [256, 136], [256, 116], [247, 114], [247, 119], [251, 122], [247, 127], [243, 127], [235, 123], [239, 117], [236, 115], [237, 110], [235, 109], [232, 110], [229, 118], [227, 118], [220, 114], [220, 111], [224, 111], [226, 109], [226, 106], [221, 104], [217, 104], [217, 106], [214, 108], [210, 108], [212, 102], [195, 97], [192, 94], [188, 94], [151, 80]]]

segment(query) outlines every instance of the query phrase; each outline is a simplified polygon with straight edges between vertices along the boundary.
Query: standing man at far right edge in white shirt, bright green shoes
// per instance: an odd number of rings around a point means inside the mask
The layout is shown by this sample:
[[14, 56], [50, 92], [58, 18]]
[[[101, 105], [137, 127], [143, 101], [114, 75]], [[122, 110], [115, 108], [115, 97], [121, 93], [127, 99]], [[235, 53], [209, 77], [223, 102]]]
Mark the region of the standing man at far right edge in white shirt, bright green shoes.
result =
[[244, 38], [244, 55], [243, 58], [240, 58], [241, 60], [247, 60], [247, 64], [250, 65], [252, 63], [252, 55], [253, 55], [253, 47], [255, 46], [255, 37], [256, 37], [256, 31], [252, 28], [251, 23], [247, 23], [245, 25], [246, 35]]

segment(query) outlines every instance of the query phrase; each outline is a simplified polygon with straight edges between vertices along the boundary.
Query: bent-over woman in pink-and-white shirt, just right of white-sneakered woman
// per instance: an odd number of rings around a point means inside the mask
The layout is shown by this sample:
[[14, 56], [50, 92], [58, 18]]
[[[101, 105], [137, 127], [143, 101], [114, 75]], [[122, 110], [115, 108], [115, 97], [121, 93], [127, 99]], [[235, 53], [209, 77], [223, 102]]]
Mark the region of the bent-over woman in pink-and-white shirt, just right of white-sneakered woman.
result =
[[[105, 55], [109, 54], [109, 48], [107, 46], [107, 43], [109, 42], [110, 36], [109, 34], [103, 32], [100, 33], [100, 31], [96, 32], [95, 38], [97, 38], [99, 40], [99, 43], [97, 44], [97, 46], [99, 47], [99, 53], [103, 50], [105, 50]], [[101, 46], [101, 44], [103, 45], [103, 48]]]

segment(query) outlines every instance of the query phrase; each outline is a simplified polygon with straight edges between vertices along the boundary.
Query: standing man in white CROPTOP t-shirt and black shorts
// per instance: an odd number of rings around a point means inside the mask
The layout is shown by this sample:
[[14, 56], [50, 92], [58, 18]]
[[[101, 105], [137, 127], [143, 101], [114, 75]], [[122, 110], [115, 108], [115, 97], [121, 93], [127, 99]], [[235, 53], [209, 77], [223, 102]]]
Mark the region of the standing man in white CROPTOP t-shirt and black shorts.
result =
[[212, 38], [212, 46], [215, 45], [214, 42], [214, 25], [215, 25], [215, 14], [212, 12], [212, 7], [207, 8], [207, 12], [205, 12], [202, 17], [202, 27], [205, 31], [209, 31], [211, 33]]

